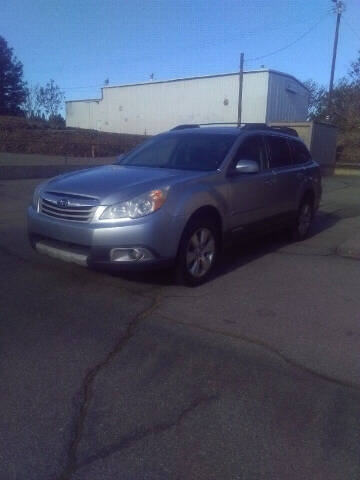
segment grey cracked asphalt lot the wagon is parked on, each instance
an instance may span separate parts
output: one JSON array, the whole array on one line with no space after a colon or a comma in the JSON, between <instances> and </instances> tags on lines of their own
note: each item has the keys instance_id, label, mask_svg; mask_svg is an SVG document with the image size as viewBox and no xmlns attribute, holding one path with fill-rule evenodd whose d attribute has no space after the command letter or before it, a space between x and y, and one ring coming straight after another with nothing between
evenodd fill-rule
<instances>
[{"instance_id":1,"label":"grey cracked asphalt lot the wagon is parked on","mask_svg":"<svg viewBox=\"0 0 360 480\"><path fill-rule=\"evenodd\" d=\"M360 478L360 177L198 288L33 252L37 183L0 182L1 480Z\"/></svg>"}]
</instances>

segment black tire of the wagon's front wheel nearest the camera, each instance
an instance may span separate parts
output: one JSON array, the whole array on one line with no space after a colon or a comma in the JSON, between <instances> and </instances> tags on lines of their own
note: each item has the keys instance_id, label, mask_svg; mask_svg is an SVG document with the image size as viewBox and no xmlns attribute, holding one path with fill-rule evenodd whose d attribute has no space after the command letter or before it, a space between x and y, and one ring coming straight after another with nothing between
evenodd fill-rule
<instances>
[{"instance_id":1,"label":"black tire of the wagon's front wheel nearest the camera","mask_svg":"<svg viewBox=\"0 0 360 480\"><path fill-rule=\"evenodd\" d=\"M208 241L205 242L202 247L199 244L199 251L192 251L194 247L194 240L198 238L200 240L202 235L209 233ZM210 255L213 247L213 255ZM206 252L208 250L208 252ZM179 284L185 284L189 286L197 286L205 283L211 276L214 267L217 263L220 252L220 230L216 223L214 223L210 218L194 218L185 227L185 230L182 234L180 246L178 250L176 267L175 267L175 278L176 282ZM194 262L192 263L191 258L194 255ZM204 266L204 272L200 270L197 271L195 262L199 262L200 266ZM208 266L208 263L210 265ZM208 268L205 268L205 266Z\"/></svg>"}]
</instances>

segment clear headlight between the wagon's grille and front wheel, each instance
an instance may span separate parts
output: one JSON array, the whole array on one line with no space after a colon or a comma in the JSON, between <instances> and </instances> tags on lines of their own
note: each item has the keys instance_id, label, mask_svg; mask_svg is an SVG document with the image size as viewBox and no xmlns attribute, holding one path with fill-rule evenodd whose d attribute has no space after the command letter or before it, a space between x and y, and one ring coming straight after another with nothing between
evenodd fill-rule
<instances>
[{"instance_id":1,"label":"clear headlight between the wagon's grille and front wheel","mask_svg":"<svg viewBox=\"0 0 360 480\"><path fill-rule=\"evenodd\" d=\"M127 202L111 205L104 210L100 220L145 217L164 205L168 190L168 187L151 190Z\"/></svg>"}]
</instances>

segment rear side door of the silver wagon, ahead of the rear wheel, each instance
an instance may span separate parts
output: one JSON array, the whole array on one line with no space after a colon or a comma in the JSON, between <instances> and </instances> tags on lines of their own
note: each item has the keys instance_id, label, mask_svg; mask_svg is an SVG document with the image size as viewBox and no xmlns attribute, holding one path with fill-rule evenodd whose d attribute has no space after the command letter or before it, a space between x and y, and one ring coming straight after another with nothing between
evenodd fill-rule
<instances>
[{"instance_id":1,"label":"rear side door of the silver wagon, ahead of the rear wheel","mask_svg":"<svg viewBox=\"0 0 360 480\"><path fill-rule=\"evenodd\" d=\"M286 220L297 209L300 176L299 165L293 163L287 137L266 134L269 152L269 170L276 176L274 189L274 220Z\"/></svg>"}]
</instances>

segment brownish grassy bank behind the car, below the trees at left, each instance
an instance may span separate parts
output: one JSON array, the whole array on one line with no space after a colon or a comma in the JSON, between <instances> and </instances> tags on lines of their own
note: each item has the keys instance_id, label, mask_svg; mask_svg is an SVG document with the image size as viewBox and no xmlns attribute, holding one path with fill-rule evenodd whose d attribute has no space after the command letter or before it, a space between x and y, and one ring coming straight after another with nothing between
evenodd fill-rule
<instances>
[{"instance_id":1,"label":"brownish grassy bank behind the car, below the trees at left","mask_svg":"<svg viewBox=\"0 0 360 480\"><path fill-rule=\"evenodd\" d=\"M0 152L106 157L130 150L144 139L80 128L54 129L42 121L0 116Z\"/></svg>"}]
</instances>

